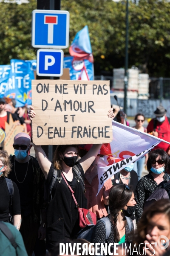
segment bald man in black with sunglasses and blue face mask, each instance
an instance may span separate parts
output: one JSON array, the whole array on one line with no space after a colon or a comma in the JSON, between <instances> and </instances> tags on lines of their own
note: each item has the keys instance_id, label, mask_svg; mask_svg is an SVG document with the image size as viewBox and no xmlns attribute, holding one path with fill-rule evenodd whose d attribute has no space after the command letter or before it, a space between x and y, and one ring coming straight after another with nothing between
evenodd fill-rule
<instances>
[{"instance_id":1,"label":"bald man in black with sunglasses and blue face mask","mask_svg":"<svg viewBox=\"0 0 170 256\"><path fill-rule=\"evenodd\" d=\"M14 156L11 157L11 172L9 178L13 180L20 192L22 223L20 232L24 244L31 256L45 255L45 219L42 214L40 225L40 210L43 208L44 175L35 157L28 154L32 145L28 134L19 133L14 137ZM42 209L44 213L44 210ZM37 237L39 239L37 239ZM40 241L42 240L42 241ZM37 254L34 245L42 249ZM39 246L40 245L40 246Z\"/></svg>"}]
</instances>

